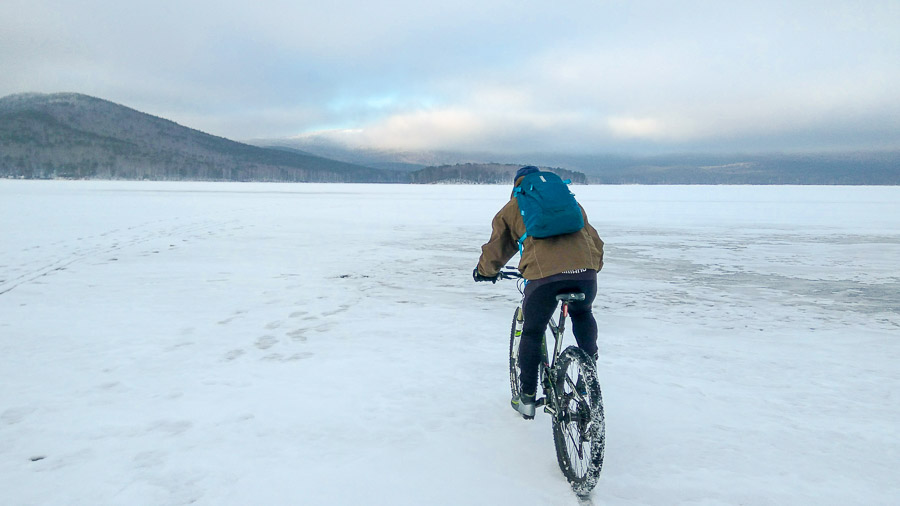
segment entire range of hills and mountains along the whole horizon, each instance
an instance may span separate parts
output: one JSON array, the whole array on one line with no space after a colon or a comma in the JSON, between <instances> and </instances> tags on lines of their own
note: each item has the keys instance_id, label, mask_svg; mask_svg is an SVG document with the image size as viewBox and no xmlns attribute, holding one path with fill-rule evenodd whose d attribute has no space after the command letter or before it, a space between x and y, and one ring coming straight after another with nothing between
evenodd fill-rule
<instances>
[{"instance_id":1,"label":"entire range of hills and mountains along the whole horizon","mask_svg":"<svg viewBox=\"0 0 900 506\"><path fill-rule=\"evenodd\" d=\"M76 93L0 98L0 177L505 184L512 167L538 165L600 184L900 185L897 151L492 154L353 149L315 136L254 144Z\"/></svg>"}]
</instances>

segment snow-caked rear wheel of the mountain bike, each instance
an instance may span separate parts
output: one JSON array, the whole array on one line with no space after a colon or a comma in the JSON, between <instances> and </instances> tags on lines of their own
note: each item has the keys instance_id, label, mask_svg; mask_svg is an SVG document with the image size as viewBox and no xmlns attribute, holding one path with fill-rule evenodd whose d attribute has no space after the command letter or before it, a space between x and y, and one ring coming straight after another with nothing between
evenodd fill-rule
<instances>
[{"instance_id":1,"label":"snow-caked rear wheel of the mountain bike","mask_svg":"<svg viewBox=\"0 0 900 506\"><path fill-rule=\"evenodd\" d=\"M580 396L574 393L579 378L585 386ZM559 412L553 417L556 459L575 493L586 496L600 477L606 444L597 368L584 350L569 346L557 359L553 379L559 399Z\"/></svg>"}]
</instances>

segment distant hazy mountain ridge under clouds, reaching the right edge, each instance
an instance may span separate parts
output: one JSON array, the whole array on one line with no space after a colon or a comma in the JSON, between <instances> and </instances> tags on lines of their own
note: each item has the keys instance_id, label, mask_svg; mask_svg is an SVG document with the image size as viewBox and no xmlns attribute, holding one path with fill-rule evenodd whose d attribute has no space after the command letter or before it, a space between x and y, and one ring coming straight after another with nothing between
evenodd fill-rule
<instances>
[{"instance_id":1,"label":"distant hazy mountain ridge under clouds, reaching the right edge","mask_svg":"<svg viewBox=\"0 0 900 506\"><path fill-rule=\"evenodd\" d=\"M320 136L254 143L291 146L337 160L413 172L458 164L565 167L583 172L594 184L900 185L898 151L638 156L352 149Z\"/></svg>"}]
</instances>

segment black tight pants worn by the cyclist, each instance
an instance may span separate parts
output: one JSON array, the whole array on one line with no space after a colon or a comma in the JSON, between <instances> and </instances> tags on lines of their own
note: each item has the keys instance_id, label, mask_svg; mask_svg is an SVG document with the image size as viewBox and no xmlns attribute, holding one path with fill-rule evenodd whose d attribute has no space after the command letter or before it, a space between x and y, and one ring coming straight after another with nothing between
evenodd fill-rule
<instances>
[{"instance_id":1,"label":"black tight pants worn by the cyclist","mask_svg":"<svg viewBox=\"0 0 900 506\"><path fill-rule=\"evenodd\" d=\"M597 322L591 304L597 296L597 271L577 274L556 274L529 282L525 286L522 313L525 318L522 340L519 342L519 367L522 391L533 394L537 390L537 370L541 361L541 337L556 310L556 296L562 293L584 293L584 300L569 303L572 332L578 347L593 355L597 352ZM552 343L547 343L552 346Z\"/></svg>"}]
</instances>

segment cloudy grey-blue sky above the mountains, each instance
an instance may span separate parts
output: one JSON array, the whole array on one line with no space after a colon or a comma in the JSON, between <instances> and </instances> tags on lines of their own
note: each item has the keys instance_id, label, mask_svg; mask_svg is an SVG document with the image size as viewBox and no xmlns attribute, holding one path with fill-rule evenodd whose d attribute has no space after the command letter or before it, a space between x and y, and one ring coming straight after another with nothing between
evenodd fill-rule
<instances>
[{"instance_id":1,"label":"cloudy grey-blue sky above the mountains","mask_svg":"<svg viewBox=\"0 0 900 506\"><path fill-rule=\"evenodd\" d=\"M236 140L900 149L900 1L2 0L0 96Z\"/></svg>"}]
</instances>

